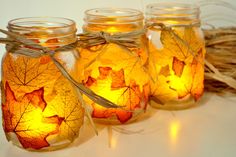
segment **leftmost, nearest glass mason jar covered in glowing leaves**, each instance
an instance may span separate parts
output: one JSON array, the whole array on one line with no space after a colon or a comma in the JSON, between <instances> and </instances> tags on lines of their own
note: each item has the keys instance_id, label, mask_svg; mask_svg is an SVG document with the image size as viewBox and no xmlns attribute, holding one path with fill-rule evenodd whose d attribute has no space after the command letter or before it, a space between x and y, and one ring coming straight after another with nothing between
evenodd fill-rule
<instances>
[{"instance_id":1,"label":"leftmost, nearest glass mason jar covered in glowing leaves","mask_svg":"<svg viewBox=\"0 0 236 157\"><path fill-rule=\"evenodd\" d=\"M8 30L52 50L77 40L74 21L64 18L15 19L8 23ZM74 53L76 49L55 54L73 77L78 70ZM84 119L75 89L49 56L13 53L6 53L2 60L2 113L8 141L36 151L70 144Z\"/></svg>"}]
</instances>

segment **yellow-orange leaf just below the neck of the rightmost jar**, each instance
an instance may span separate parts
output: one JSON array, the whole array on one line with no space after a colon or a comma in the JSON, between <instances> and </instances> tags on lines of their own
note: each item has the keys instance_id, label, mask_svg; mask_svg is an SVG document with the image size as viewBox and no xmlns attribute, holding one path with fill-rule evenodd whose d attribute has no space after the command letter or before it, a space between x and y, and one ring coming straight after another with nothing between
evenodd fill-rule
<instances>
[{"instance_id":1,"label":"yellow-orange leaf just below the neck of the rightmost jar","mask_svg":"<svg viewBox=\"0 0 236 157\"><path fill-rule=\"evenodd\" d=\"M171 31L161 32L161 42L166 54L176 57L180 61L189 63L204 45L201 32L195 27L172 28Z\"/></svg>"}]
</instances>

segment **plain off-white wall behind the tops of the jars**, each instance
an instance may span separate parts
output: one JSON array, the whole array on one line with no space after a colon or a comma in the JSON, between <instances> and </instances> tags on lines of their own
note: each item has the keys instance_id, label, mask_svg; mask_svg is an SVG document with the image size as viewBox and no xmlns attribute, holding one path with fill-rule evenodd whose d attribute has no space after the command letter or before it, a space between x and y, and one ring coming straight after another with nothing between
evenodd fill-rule
<instances>
[{"instance_id":1,"label":"plain off-white wall behind the tops of the jars","mask_svg":"<svg viewBox=\"0 0 236 157\"><path fill-rule=\"evenodd\" d=\"M8 21L15 18L55 16L73 19L77 23L78 31L81 31L84 11L87 9L125 7L145 12L147 4L156 2L187 2L197 5L216 3L216 5L202 7L202 17L211 19L208 23L216 26L236 23L236 0L0 0L0 28L6 28ZM232 8L226 9L223 7L224 3L228 3ZM0 45L0 51L1 57L4 52L2 45Z\"/></svg>"}]
</instances>

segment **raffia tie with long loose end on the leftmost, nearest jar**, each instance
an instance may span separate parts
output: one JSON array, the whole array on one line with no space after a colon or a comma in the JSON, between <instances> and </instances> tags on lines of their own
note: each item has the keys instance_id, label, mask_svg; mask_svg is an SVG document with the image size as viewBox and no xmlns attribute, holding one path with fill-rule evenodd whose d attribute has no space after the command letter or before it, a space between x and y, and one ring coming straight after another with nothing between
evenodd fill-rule
<instances>
[{"instance_id":1,"label":"raffia tie with long loose end on the leftmost, nearest jar","mask_svg":"<svg viewBox=\"0 0 236 157\"><path fill-rule=\"evenodd\" d=\"M76 82L70 74L66 71L66 69L61 65L60 62L58 62L54 54L58 51L65 51L69 50L71 48L75 48L78 44L76 41L75 43L72 43L70 45L66 45L63 47L56 48L55 50L51 50L47 47L43 47L37 43L35 43L32 40L26 39L25 37L15 34L9 31L5 31L0 29L0 32L8 35L8 38L0 38L0 43L6 44L6 49L9 53L14 54L21 54L32 58L41 57L44 55L50 56L54 64L57 66L57 68L60 70L62 75L67 78L75 87L77 87L81 92L86 94L90 99L92 99L94 102L97 102L98 104L107 107L107 108L116 108L114 103L102 98L101 96L95 94L90 89L86 88L83 84ZM29 48L26 48L24 46L28 46Z\"/></svg>"}]
</instances>

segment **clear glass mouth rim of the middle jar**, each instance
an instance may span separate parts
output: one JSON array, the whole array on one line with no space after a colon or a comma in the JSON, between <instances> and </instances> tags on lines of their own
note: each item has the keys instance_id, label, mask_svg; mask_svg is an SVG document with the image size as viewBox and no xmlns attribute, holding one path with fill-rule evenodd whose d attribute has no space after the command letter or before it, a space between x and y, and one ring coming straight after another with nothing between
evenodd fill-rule
<instances>
[{"instance_id":1,"label":"clear glass mouth rim of the middle jar","mask_svg":"<svg viewBox=\"0 0 236 157\"><path fill-rule=\"evenodd\" d=\"M127 23L142 21L143 13L129 8L94 8L85 11L84 21L89 23L117 22Z\"/></svg>"}]
</instances>

